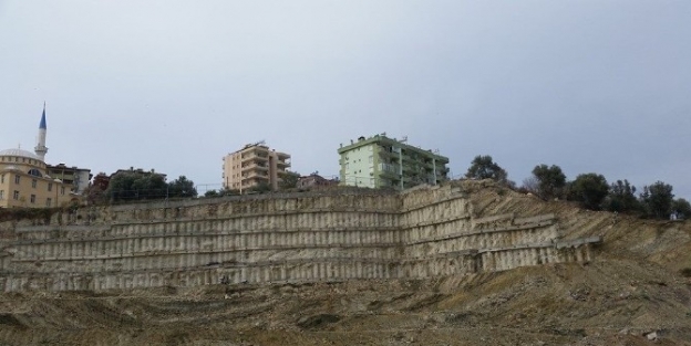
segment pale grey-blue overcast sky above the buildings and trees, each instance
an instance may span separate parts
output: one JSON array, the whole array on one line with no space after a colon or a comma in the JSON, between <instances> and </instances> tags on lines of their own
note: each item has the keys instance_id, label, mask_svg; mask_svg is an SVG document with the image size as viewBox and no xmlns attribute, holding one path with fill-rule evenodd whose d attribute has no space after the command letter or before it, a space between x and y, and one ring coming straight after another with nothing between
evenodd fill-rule
<instances>
[{"instance_id":1,"label":"pale grey-blue overcast sky above the buildings and trees","mask_svg":"<svg viewBox=\"0 0 691 346\"><path fill-rule=\"evenodd\" d=\"M205 188L266 140L337 175L385 132L454 176L491 155L691 198L691 1L0 0L0 149Z\"/></svg>"}]
</instances>

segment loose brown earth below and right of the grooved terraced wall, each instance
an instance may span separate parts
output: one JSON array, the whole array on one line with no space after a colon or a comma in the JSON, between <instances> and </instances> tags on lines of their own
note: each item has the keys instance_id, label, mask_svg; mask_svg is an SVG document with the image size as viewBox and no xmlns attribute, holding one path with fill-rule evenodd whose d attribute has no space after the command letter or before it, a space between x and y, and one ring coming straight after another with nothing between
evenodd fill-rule
<instances>
[{"instance_id":1,"label":"loose brown earth below and right of the grooved terraced wall","mask_svg":"<svg viewBox=\"0 0 691 346\"><path fill-rule=\"evenodd\" d=\"M0 345L691 345L691 223L456 182L476 217L554 213L595 260L431 280L0 294Z\"/></svg>"}]
</instances>

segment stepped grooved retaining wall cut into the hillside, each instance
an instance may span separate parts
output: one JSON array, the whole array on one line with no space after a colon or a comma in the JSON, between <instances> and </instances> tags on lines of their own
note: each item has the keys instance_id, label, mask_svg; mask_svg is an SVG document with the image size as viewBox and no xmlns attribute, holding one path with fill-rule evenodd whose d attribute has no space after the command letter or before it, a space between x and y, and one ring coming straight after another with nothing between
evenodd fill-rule
<instances>
[{"instance_id":1,"label":"stepped grooved retaining wall cut into the hillside","mask_svg":"<svg viewBox=\"0 0 691 346\"><path fill-rule=\"evenodd\" d=\"M2 223L0 289L419 279L589 261L599 241L559 242L553 214L473 208L453 186L82 208Z\"/></svg>"}]
</instances>

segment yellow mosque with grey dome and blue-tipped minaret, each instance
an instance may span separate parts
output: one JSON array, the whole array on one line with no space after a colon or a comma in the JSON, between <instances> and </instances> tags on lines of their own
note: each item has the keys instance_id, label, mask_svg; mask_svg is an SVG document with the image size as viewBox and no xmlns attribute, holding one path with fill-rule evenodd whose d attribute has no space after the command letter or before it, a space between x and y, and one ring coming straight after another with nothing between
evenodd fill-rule
<instances>
[{"instance_id":1,"label":"yellow mosque with grey dome and blue-tipped minaret","mask_svg":"<svg viewBox=\"0 0 691 346\"><path fill-rule=\"evenodd\" d=\"M45 104L34 153L0 151L0 208L59 207L78 198L91 179L89 169L45 164Z\"/></svg>"}]
</instances>

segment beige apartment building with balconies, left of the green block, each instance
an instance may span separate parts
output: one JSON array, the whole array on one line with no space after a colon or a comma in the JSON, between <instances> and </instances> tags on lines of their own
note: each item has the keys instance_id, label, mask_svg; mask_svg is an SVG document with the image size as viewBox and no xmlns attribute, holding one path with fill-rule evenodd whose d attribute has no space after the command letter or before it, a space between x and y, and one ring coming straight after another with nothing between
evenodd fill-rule
<instances>
[{"instance_id":1,"label":"beige apartment building with balconies, left of the green block","mask_svg":"<svg viewBox=\"0 0 691 346\"><path fill-rule=\"evenodd\" d=\"M268 184L272 190L290 167L290 155L270 149L264 141L248 144L224 158L224 188L239 190Z\"/></svg>"}]
</instances>

